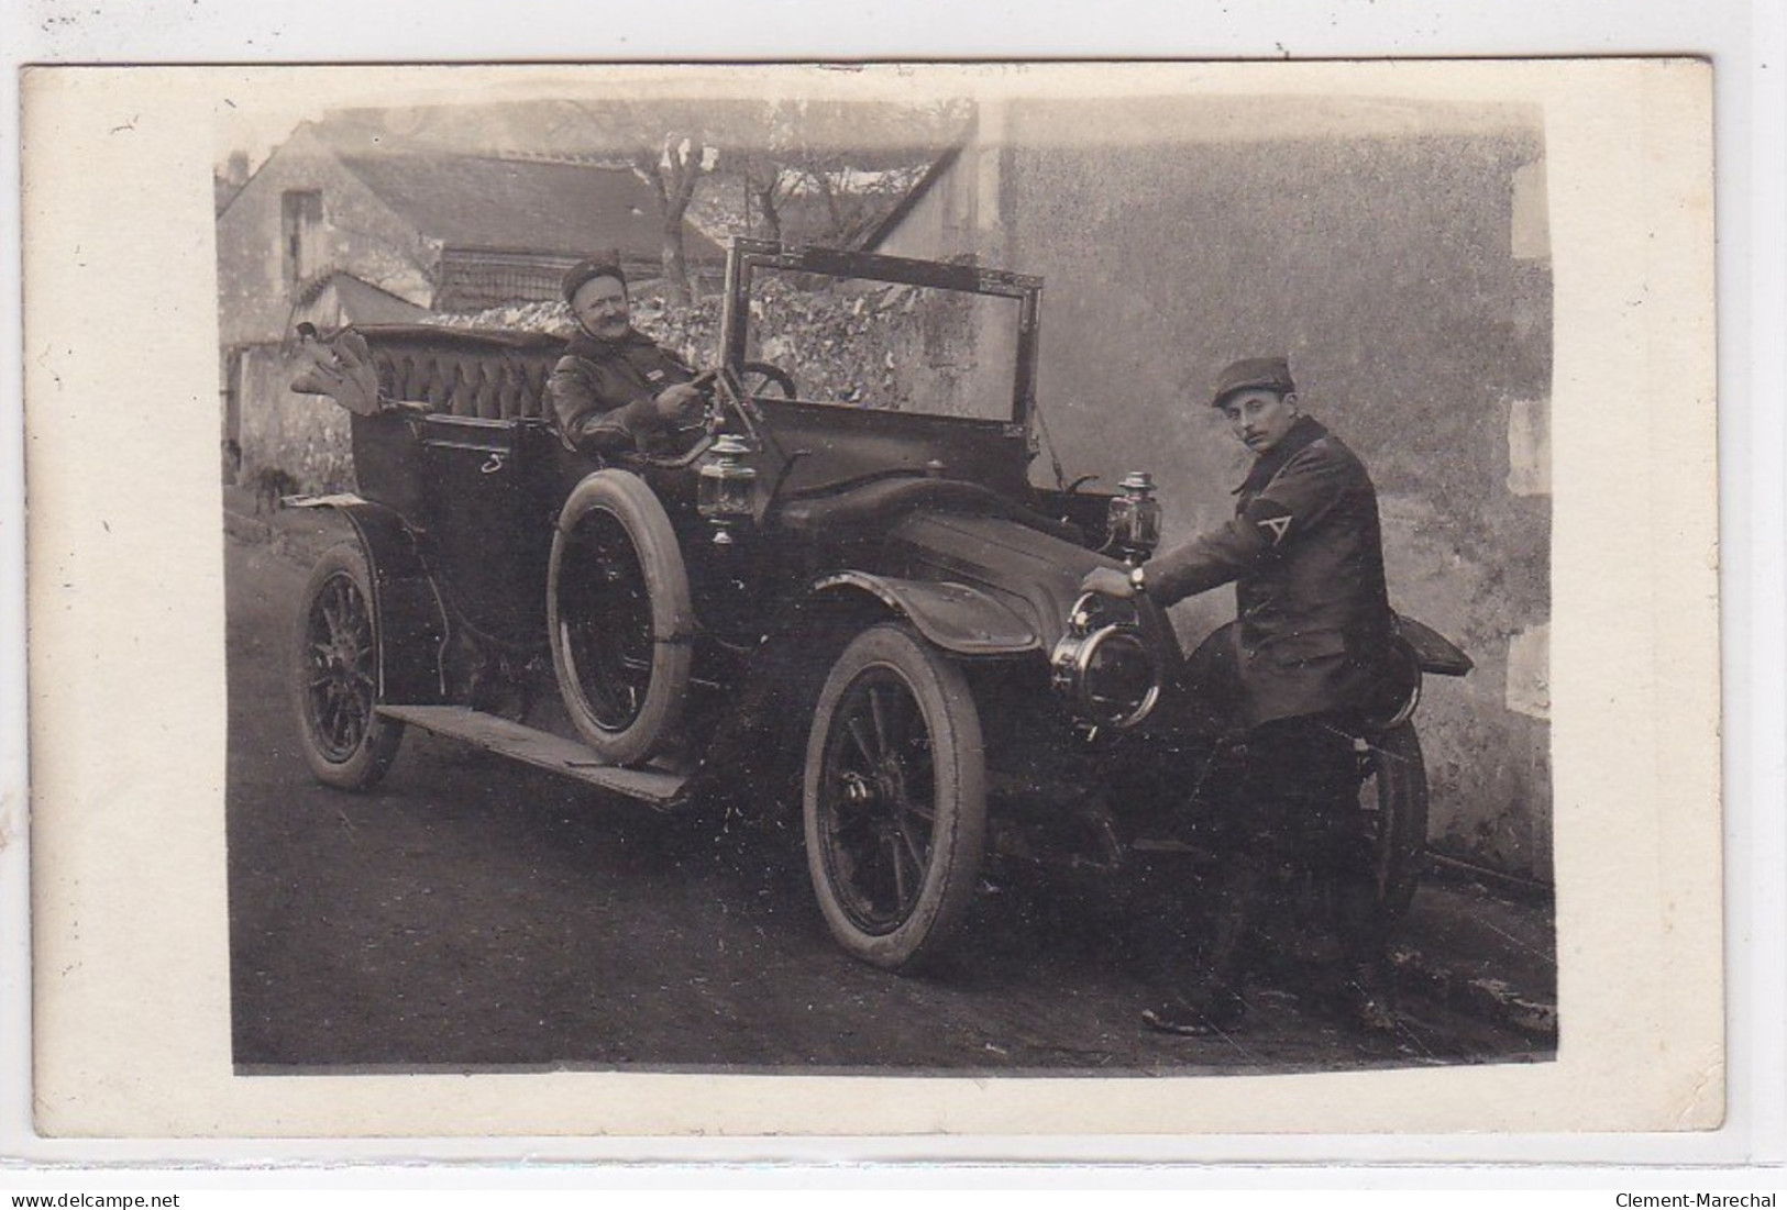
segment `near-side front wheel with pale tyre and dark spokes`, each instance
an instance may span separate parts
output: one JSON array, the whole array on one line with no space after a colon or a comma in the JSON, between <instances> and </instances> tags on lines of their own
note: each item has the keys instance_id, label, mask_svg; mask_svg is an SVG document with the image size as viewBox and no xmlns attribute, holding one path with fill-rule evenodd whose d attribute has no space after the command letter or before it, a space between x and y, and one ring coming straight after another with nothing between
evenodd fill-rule
<instances>
[{"instance_id":1,"label":"near-side front wheel with pale tyre and dark spokes","mask_svg":"<svg viewBox=\"0 0 1787 1210\"><path fill-rule=\"evenodd\" d=\"M802 816L833 937L892 971L935 957L986 842L986 757L961 669L899 625L852 639L818 696Z\"/></svg>"}]
</instances>

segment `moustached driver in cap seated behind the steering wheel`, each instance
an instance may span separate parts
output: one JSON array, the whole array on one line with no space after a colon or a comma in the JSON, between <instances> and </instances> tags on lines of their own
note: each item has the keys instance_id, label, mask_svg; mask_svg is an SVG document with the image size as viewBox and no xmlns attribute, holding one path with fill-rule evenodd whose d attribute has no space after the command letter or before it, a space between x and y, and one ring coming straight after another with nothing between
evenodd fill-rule
<instances>
[{"instance_id":1,"label":"moustached driver in cap seated behind the steering wheel","mask_svg":"<svg viewBox=\"0 0 1787 1210\"><path fill-rule=\"evenodd\" d=\"M597 457L668 453L693 419L701 393L675 353L631 323L627 278L613 261L579 261L565 273L577 318L565 357L547 378L547 403L565 444Z\"/></svg>"}]
</instances>

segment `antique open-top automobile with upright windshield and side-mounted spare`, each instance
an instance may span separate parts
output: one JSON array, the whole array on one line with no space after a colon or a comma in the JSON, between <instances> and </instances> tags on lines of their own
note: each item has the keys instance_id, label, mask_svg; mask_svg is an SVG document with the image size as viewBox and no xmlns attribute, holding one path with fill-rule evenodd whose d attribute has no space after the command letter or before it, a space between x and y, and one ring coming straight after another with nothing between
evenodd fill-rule
<instances>
[{"instance_id":1,"label":"antique open-top automobile with upright windshield and side-mounted spare","mask_svg":"<svg viewBox=\"0 0 1787 1210\"><path fill-rule=\"evenodd\" d=\"M1145 598L1079 593L1147 557L1158 503L1145 475L1031 484L1040 298L734 241L699 427L608 466L541 412L558 337L334 334L377 393L336 393L357 494L293 501L357 539L298 609L311 769L370 787L418 726L667 810L797 796L826 923L890 969L944 946L988 853L1120 869L1162 821L1196 833L1221 632L1185 659ZM1426 839L1421 676L1467 669L1405 619L1360 735L1390 912Z\"/></svg>"}]
</instances>

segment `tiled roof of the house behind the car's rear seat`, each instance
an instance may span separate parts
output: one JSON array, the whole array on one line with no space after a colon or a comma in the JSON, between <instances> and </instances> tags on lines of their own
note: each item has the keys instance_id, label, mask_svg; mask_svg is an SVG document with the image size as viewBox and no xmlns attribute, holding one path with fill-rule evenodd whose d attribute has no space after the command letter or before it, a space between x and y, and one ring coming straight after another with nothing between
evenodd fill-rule
<instances>
[{"instance_id":1,"label":"tiled roof of the house behind the car's rear seat","mask_svg":"<svg viewBox=\"0 0 1787 1210\"><path fill-rule=\"evenodd\" d=\"M658 200L627 168L474 155L347 155L348 171L427 237L461 248L656 257ZM692 261L720 246L684 225Z\"/></svg>"}]
</instances>

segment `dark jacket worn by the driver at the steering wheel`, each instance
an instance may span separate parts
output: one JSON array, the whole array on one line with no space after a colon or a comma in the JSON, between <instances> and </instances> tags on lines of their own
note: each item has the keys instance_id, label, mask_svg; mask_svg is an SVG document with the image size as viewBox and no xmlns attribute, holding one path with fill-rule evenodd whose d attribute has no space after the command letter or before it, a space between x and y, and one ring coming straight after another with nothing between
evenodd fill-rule
<instances>
[{"instance_id":1,"label":"dark jacket worn by the driver at the steering wheel","mask_svg":"<svg viewBox=\"0 0 1787 1210\"><path fill-rule=\"evenodd\" d=\"M572 337L547 378L559 435L584 453L658 450L672 441L652 398L695 375L675 353L634 328L617 341Z\"/></svg>"}]
</instances>

